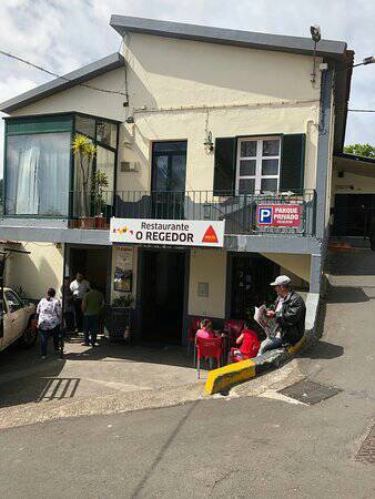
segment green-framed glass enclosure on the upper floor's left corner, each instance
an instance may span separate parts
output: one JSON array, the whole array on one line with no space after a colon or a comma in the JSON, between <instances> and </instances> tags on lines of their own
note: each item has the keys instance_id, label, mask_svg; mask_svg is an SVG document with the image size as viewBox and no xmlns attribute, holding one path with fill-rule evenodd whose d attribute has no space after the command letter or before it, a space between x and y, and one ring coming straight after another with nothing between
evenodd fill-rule
<instances>
[{"instance_id":1,"label":"green-framed glass enclosure on the upper floor's left corner","mask_svg":"<svg viewBox=\"0 0 375 499\"><path fill-rule=\"evenodd\" d=\"M85 192L81 169L72 154L72 139L77 133L88 136L97 146L90 171L85 172L89 179ZM116 143L118 123L101 118L67 113L8 119L6 215L68 217L82 213L78 206L82 196L88 197L87 204L93 212L90 181L98 170L108 179L103 203L112 205Z\"/></svg>"}]
</instances>

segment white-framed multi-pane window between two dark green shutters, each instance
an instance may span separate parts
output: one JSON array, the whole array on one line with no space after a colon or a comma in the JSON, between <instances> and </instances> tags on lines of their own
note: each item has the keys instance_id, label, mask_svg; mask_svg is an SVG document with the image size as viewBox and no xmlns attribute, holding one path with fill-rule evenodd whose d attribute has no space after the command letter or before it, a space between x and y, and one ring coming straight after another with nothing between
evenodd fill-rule
<instances>
[{"instance_id":1,"label":"white-framed multi-pane window between two dark green shutters","mask_svg":"<svg viewBox=\"0 0 375 499\"><path fill-rule=\"evenodd\" d=\"M280 138L239 139L236 194L278 191L280 160Z\"/></svg>"}]
</instances>

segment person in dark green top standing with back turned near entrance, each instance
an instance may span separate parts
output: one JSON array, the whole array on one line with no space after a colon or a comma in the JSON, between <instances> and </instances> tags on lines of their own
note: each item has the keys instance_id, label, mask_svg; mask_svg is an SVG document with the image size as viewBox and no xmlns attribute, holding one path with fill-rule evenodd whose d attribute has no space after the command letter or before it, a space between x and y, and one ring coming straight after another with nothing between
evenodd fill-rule
<instances>
[{"instance_id":1,"label":"person in dark green top standing with back turned near entrance","mask_svg":"<svg viewBox=\"0 0 375 499\"><path fill-rule=\"evenodd\" d=\"M97 345L97 336L100 329L100 315L104 308L104 296L97 289L94 283L91 283L91 289L83 296L82 312L83 312L83 334L84 342L82 345Z\"/></svg>"}]
</instances>

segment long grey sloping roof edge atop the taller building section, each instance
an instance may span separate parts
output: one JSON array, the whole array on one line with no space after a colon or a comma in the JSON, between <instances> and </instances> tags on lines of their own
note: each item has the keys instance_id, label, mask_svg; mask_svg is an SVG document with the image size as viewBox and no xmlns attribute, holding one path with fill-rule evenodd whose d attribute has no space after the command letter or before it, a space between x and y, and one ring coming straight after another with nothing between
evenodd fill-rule
<instances>
[{"instance_id":1,"label":"long grey sloping roof edge atop the taller building section","mask_svg":"<svg viewBox=\"0 0 375 499\"><path fill-rule=\"evenodd\" d=\"M229 30L207 26L185 24L182 22L159 21L129 16L111 17L111 27L121 35L125 32L153 34L156 37L195 40L226 45L246 47L259 50L273 50L311 55L314 43L311 38L286 37L283 34L257 33L253 31ZM331 59L343 59L346 43L334 40L321 40L316 54Z\"/></svg>"}]
</instances>

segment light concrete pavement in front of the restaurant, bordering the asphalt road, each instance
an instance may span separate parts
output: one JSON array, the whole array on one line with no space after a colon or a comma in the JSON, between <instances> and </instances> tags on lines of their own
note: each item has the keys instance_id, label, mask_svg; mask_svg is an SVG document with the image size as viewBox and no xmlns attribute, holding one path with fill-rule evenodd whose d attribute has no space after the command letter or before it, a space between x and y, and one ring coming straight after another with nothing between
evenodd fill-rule
<instances>
[{"instance_id":1,"label":"light concrete pavement in front of the restaurant, bordering the asphalt road","mask_svg":"<svg viewBox=\"0 0 375 499\"><path fill-rule=\"evenodd\" d=\"M197 381L181 347L65 345L65 358L41 361L38 348L10 349L0 358L0 428L77 416L171 407L207 398L207 371ZM226 400L257 396L301 379L296 361L231 390ZM221 396L214 396L221 397Z\"/></svg>"}]
</instances>

